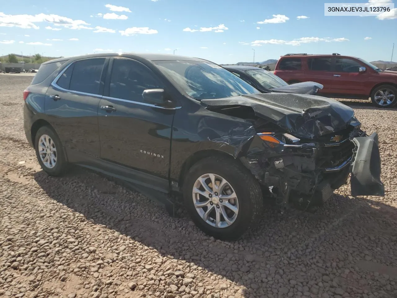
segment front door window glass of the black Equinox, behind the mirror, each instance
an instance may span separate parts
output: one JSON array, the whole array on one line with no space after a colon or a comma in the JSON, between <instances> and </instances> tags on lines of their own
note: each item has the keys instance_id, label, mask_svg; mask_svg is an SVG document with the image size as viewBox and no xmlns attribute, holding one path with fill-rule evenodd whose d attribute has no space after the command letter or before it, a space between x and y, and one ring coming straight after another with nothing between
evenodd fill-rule
<instances>
[{"instance_id":1,"label":"front door window glass of the black Equinox, behind the mirror","mask_svg":"<svg viewBox=\"0 0 397 298\"><path fill-rule=\"evenodd\" d=\"M114 59L110 78L109 96L142 103L145 89L162 89L152 71L141 62Z\"/></svg>"}]
</instances>

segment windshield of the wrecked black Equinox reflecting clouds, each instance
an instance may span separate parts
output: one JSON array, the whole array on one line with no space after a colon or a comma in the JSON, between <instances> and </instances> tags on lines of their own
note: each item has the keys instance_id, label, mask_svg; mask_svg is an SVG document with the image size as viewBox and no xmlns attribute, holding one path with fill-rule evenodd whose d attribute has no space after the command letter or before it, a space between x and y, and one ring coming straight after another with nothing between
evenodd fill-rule
<instances>
[{"instance_id":1,"label":"windshield of the wrecked black Equinox reflecting clouds","mask_svg":"<svg viewBox=\"0 0 397 298\"><path fill-rule=\"evenodd\" d=\"M260 93L249 83L211 62L191 60L153 62L179 89L193 99L219 99Z\"/></svg>"}]
</instances>

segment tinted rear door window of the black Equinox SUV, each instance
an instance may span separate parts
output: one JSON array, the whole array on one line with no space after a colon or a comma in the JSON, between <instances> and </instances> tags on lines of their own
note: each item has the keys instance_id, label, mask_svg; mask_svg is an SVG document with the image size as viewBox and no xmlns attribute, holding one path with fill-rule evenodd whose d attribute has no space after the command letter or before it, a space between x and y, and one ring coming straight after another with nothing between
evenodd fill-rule
<instances>
[{"instance_id":1,"label":"tinted rear door window of the black Equinox SUV","mask_svg":"<svg viewBox=\"0 0 397 298\"><path fill-rule=\"evenodd\" d=\"M100 78L105 58L85 59L74 62L69 90L99 94Z\"/></svg>"}]
</instances>

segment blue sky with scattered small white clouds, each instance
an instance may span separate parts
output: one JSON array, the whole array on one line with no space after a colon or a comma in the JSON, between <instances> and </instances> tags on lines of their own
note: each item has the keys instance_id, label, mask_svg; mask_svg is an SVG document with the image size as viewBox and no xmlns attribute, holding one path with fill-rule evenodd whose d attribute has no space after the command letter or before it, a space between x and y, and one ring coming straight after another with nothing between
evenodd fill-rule
<instances>
[{"instance_id":1,"label":"blue sky with scattered small white clouds","mask_svg":"<svg viewBox=\"0 0 397 298\"><path fill-rule=\"evenodd\" d=\"M367 0L388 2L394 0ZM331 2L331 1L328 1ZM366 1L356 0L356 3ZM169 53L218 64L287 53L397 58L397 8L377 16L324 16L318 0L2 1L0 55ZM393 58L393 60L396 60Z\"/></svg>"}]
</instances>

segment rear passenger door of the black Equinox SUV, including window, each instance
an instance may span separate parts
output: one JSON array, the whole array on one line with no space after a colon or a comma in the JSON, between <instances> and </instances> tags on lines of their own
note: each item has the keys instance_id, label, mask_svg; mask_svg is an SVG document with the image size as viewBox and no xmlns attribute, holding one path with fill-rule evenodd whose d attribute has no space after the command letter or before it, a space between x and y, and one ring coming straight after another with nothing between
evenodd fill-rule
<instances>
[{"instance_id":1,"label":"rear passenger door of the black Equinox SUV, including window","mask_svg":"<svg viewBox=\"0 0 397 298\"><path fill-rule=\"evenodd\" d=\"M100 157L98 104L102 98L106 58L69 64L45 97L45 112L64 145L69 161Z\"/></svg>"}]
</instances>

